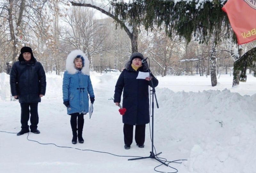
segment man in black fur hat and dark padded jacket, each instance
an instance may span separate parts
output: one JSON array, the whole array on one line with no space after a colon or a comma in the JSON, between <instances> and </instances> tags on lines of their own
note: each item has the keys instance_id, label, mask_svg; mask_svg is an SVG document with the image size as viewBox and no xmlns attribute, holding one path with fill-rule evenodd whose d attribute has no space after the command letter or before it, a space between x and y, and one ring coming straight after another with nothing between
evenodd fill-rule
<instances>
[{"instance_id":1,"label":"man in black fur hat and dark padded jacket","mask_svg":"<svg viewBox=\"0 0 256 173\"><path fill-rule=\"evenodd\" d=\"M11 93L15 99L19 99L21 107L21 131L17 136L29 132L29 113L31 114L30 132L38 134L40 131L37 130L37 107L46 90L44 68L36 61L30 47L21 48L18 59L19 61L12 65L10 74Z\"/></svg>"}]
</instances>

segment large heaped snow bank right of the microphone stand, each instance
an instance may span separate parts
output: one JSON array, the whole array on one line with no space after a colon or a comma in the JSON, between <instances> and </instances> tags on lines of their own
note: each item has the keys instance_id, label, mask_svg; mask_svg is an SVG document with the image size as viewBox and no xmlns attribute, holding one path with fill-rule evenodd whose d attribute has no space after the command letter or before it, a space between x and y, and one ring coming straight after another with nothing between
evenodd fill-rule
<instances>
[{"instance_id":1,"label":"large heaped snow bank right of the microphone stand","mask_svg":"<svg viewBox=\"0 0 256 173\"><path fill-rule=\"evenodd\" d=\"M255 172L256 94L157 92L156 129L168 132L160 140L189 154L180 172Z\"/></svg>"}]
</instances>

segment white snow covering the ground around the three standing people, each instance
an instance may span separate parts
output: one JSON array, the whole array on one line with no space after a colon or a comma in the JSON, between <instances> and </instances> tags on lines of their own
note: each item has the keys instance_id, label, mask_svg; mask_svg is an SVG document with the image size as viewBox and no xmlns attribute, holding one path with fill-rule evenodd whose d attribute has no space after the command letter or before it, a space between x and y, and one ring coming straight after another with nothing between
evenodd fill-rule
<instances>
[{"instance_id":1,"label":"white snow covering the ground around the three standing people","mask_svg":"<svg viewBox=\"0 0 256 173\"><path fill-rule=\"evenodd\" d=\"M62 78L47 74L46 95L39 103L40 134L22 136L0 132L0 172L111 172L153 173L159 162L152 159L127 161L117 157L73 148L117 155L149 156L151 141L146 126L145 148L133 142L124 149L122 117L112 100L120 73L91 72L95 93L92 118L85 115L84 144L71 143L69 116L62 104ZM218 85L210 77L157 77L159 109L154 112L154 145L159 157L181 173L253 173L256 170L256 78L234 88L232 77L221 75ZM20 104L10 101L9 75L0 73L0 131L20 131ZM227 89L225 89L227 88ZM183 91L184 90L184 91ZM155 106L156 108L156 106ZM156 168L175 172L166 166Z\"/></svg>"}]
</instances>

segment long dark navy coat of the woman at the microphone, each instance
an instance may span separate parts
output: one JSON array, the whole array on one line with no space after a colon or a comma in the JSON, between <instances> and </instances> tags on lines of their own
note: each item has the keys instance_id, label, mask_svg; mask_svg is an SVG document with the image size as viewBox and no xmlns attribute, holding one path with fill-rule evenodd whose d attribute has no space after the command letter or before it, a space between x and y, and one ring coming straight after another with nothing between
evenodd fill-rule
<instances>
[{"instance_id":1,"label":"long dark navy coat of the woman at the microphone","mask_svg":"<svg viewBox=\"0 0 256 173\"><path fill-rule=\"evenodd\" d=\"M116 82L114 102L121 102L121 95L124 89L123 108L126 108L126 112L123 115L124 124L140 125L149 123L148 86L151 86L151 81L136 79L139 71L148 72L148 69L143 64L142 67L135 71L129 63ZM158 80L153 75L152 81L156 87Z\"/></svg>"}]
</instances>

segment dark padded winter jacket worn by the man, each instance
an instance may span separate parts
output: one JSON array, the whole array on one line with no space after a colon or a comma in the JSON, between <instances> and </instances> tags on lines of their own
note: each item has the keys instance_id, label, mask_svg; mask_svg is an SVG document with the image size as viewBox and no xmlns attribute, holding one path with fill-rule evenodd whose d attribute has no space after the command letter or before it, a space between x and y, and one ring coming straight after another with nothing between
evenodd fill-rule
<instances>
[{"instance_id":1,"label":"dark padded winter jacket worn by the man","mask_svg":"<svg viewBox=\"0 0 256 173\"><path fill-rule=\"evenodd\" d=\"M12 96L18 95L19 102L41 102L39 94L45 94L46 77L41 63L34 56L26 62L21 55L12 65L10 74Z\"/></svg>"}]
</instances>

